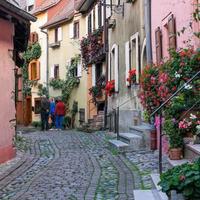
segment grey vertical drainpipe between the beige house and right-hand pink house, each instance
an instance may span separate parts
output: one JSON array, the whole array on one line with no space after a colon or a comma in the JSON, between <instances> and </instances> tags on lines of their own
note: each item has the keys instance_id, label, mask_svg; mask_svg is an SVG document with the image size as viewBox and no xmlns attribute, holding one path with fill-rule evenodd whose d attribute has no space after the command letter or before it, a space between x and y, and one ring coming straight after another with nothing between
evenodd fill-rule
<instances>
[{"instance_id":1,"label":"grey vertical drainpipe between the beige house and right-hand pink house","mask_svg":"<svg viewBox=\"0 0 200 200\"><path fill-rule=\"evenodd\" d=\"M144 0L144 17L146 33L146 53L147 64L152 64L152 44L151 44L151 0Z\"/></svg>"}]
</instances>

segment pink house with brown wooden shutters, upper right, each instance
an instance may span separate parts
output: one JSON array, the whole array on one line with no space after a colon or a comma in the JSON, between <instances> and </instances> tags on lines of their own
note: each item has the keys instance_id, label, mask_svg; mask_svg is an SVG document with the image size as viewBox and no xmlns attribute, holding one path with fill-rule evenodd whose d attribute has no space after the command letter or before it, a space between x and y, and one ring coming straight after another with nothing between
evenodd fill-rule
<instances>
[{"instance_id":1,"label":"pink house with brown wooden shutters, upper right","mask_svg":"<svg viewBox=\"0 0 200 200\"><path fill-rule=\"evenodd\" d=\"M153 62L168 57L169 48L200 47L200 40L194 32L200 31L193 13L198 0L152 0L151 37ZM180 35L178 34L180 33Z\"/></svg>"}]
</instances>

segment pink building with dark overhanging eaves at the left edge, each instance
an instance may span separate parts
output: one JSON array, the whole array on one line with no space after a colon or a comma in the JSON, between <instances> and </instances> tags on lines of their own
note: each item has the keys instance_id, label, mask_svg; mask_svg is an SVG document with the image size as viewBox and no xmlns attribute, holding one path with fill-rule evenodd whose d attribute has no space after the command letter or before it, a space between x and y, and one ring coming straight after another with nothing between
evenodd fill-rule
<instances>
[{"instance_id":1,"label":"pink building with dark overhanging eaves at the left edge","mask_svg":"<svg viewBox=\"0 0 200 200\"><path fill-rule=\"evenodd\" d=\"M0 163L15 156L15 72L23 65L30 20L36 18L8 1L0 1ZM16 83L16 84L15 84Z\"/></svg>"}]
</instances>

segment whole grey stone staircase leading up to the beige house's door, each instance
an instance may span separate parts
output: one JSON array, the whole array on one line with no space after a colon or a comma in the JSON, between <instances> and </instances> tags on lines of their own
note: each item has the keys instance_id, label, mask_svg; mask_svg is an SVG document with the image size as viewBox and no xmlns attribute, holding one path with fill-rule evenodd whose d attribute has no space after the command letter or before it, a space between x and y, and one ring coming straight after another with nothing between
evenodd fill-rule
<instances>
[{"instance_id":1,"label":"whole grey stone staircase leading up to the beige house's door","mask_svg":"<svg viewBox=\"0 0 200 200\"><path fill-rule=\"evenodd\" d=\"M109 143L121 152L150 150L152 130L146 123L131 126L128 133L119 133L119 140L109 140Z\"/></svg>"}]
</instances>

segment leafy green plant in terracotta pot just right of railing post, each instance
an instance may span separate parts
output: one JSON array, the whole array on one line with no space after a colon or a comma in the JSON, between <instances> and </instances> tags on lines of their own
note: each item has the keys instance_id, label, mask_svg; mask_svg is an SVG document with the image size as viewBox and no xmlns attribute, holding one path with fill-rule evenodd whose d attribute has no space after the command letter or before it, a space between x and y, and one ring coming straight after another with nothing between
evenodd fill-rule
<instances>
[{"instance_id":1,"label":"leafy green plant in terracotta pot just right of railing post","mask_svg":"<svg viewBox=\"0 0 200 200\"><path fill-rule=\"evenodd\" d=\"M169 158L171 160L180 160L183 157L183 138L177 123L172 119L167 119L164 122L164 131L169 137Z\"/></svg>"}]
</instances>

